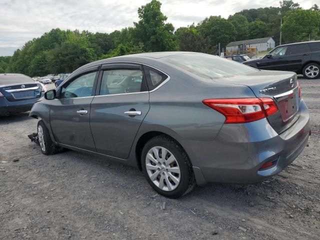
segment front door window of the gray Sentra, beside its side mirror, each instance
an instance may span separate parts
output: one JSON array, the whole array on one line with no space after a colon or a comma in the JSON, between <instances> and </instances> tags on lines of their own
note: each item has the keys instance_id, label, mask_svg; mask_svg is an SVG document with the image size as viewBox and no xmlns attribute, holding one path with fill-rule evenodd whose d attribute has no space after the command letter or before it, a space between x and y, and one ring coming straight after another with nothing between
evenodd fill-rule
<instances>
[{"instance_id":1,"label":"front door window of the gray Sentra, beside its side mirror","mask_svg":"<svg viewBox=\"0 0 320 240\"><path fill-rule=\"evenodd\" d=\"M74 98L92 95L96 72L89 72L76 77L62 86L60 98Z\"/></svg>"}]
</instances>

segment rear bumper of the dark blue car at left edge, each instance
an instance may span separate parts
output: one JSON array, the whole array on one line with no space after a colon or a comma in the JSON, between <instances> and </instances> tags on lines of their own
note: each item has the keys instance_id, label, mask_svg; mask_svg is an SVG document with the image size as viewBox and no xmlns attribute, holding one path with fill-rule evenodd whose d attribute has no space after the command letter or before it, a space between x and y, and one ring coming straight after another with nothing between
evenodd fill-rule
<instances>
[{"instance_id":1,"label":"rear bumper of the dark blue car at left edge","mask_svg":"<svg viewBox=\"0 0 320 240\"><path fill-rule=\"evenodd\" d=\"M10 115L13 113L29 111L39 97L19 101L8 101L5 97L0 98L0 116Z\"/></svg>"}]
</instances>

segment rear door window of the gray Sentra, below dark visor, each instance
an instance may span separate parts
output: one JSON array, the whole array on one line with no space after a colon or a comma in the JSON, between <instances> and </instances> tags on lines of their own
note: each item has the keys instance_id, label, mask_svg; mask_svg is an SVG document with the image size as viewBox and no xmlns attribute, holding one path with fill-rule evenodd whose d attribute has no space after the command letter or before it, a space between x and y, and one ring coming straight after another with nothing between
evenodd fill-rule
<instances>
[{"instance_id":1,"label":"rear door window of the gray Sentra, below dark visor","mask_svg":"<svg viewBox=\"0 0 320 240\"><path fill-rule=\"evenodd\" d=\"M140 69L103 70L99 95L133 93L146 90Z\"/></svg>"}]
</instances>

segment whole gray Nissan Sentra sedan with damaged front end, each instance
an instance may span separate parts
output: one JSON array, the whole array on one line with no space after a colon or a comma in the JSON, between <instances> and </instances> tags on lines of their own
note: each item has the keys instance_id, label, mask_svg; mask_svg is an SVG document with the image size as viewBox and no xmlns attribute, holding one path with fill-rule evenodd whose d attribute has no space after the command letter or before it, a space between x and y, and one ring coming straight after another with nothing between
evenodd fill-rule
<instances>
[{"instance_id":1,"label":"whole gray Nissan Sentra sedan with damaged front end","mask_svg":"<svg viewBox=\"0 0 320 240\"><path fill-rule=\"evenodd\" d=\"M254 183L307 144L296 74L196 52L91 62L37 101L41 151L65 147L139 167L158 193L195 184Z\"/></svg>"}]
</instances>

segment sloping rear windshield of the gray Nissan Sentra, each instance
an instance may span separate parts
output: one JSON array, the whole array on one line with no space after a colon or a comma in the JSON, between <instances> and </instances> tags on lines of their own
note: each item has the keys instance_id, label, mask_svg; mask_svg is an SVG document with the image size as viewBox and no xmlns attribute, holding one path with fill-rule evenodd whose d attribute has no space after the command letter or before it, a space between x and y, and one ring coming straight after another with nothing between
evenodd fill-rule
<instances>
[{"instance_id":1,"label":"sloping rear windshield of the gray Nissan Sentra","mask_svg":"<svg viewBox=\"0 0 320 240\"><path fill-rule=\"evenodd\" d=\"M257 69L205 53L186 53L162 58L183 70L205 78L220 78L258 71Z\"/></svg>"}]
</instances>

